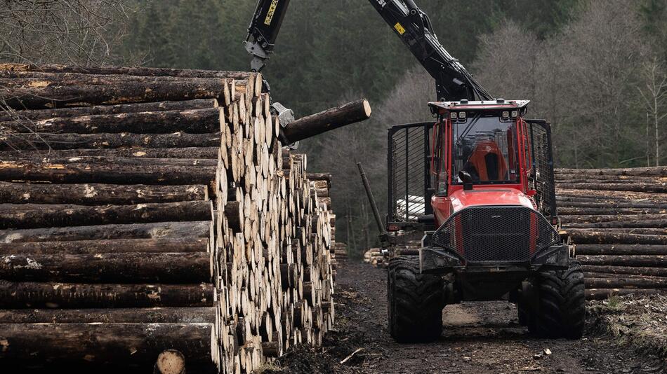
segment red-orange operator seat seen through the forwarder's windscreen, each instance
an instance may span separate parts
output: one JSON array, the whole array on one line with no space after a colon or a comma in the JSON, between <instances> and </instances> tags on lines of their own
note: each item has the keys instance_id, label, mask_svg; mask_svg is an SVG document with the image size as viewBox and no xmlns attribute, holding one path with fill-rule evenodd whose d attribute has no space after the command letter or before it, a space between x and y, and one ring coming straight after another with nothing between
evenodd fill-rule
<instances>
[{"instance_id":1,"label":"red-orange operator seat seen through the forwarder's windscreen","mask_svg":"<svg viewBox=\"0 0 667 374\"><path fill-rule=\"evenodd\" d=\"M479 181L503 181L507 176L507 163L498 144L493 140L480 141L470 154L463 169Z\"/></svg>"}]
</instances>

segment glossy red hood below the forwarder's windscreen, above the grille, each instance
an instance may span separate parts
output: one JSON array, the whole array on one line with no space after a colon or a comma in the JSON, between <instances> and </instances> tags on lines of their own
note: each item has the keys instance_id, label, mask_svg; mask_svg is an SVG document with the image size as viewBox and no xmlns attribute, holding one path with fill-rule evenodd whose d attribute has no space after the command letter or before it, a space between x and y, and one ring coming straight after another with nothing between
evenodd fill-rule
<instances>
[{"instance_id":1,"label":"glossy red hood below the forwarder's windscreen, above the grille","mask_svg":"<svg viewBox=\"0 0 667 374\"><path fill-rule=\"evenodd\" d=\"M475 186L472 191L455 191L449 198L451 198L452 213L475 205L522 205L535 209L533 200L516 188Z\"/></svg>"}]
</instances>

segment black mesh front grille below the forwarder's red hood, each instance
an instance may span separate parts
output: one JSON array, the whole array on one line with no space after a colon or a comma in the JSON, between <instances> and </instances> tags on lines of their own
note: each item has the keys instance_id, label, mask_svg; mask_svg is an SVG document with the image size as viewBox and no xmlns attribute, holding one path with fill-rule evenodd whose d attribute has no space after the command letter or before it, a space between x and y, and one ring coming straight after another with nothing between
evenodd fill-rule
<instances>
[{"instance_id":1,"label":"black mesh front grille below the forwarder's red hood","mask_svg":"<svg viewBox=\"0 0 667 374\"><path fill-rule=\"evenodd\" d=\"M529 261L560 243L560 237L544 216L527 207L469 207L452 214L432 242L468 263L515 263Z\"/></svg>"}]
</instances>

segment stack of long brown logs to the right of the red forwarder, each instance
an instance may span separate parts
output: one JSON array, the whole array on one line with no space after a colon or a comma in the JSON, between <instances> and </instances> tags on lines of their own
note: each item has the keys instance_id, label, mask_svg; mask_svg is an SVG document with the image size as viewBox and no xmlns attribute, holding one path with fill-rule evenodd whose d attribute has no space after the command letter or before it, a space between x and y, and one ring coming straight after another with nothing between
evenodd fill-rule
<instances>
[{"instance_id":1,"label":"stack of long brown logs to the right of the red forwarder","mask_svg":"<svg viewBox=\"0 0 667 374\"><path fill-rule=\"evenodd\" d=\"M667 291L667 167L556 169L555 176L586 296Z\"/></svg>"}]
</instances>

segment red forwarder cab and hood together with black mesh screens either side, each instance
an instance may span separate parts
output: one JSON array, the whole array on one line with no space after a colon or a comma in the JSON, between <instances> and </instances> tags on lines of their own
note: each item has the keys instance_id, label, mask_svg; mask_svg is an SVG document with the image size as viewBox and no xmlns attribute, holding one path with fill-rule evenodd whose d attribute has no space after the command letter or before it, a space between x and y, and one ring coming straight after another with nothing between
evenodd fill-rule
<instances>
[{"instance_id":1,"label":"red forwarder cab and hood together with black mesh screens either side","mask_svg":"<svg viewBox=\"0 0 667 374\"><path fill-rule=\"evenodd\" d=\"M391 127L388 230L435 230L465 207L499 205L555 225L550 125L524 119L528 103L431 102L435 123Z\"/></svg>"}]
</instances>

